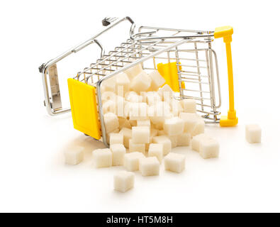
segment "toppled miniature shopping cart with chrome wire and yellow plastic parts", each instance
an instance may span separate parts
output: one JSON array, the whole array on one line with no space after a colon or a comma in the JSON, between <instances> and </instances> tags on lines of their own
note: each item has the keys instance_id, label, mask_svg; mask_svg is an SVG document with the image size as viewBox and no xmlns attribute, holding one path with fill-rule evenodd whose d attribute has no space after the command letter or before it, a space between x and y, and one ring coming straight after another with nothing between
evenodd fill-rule
<instances>
[{"instance_id":1,"label":"toppled miniature shopping cart with chrome wire and yellow plastic parts","mask_svg":"<svg viewBox=\"0 0 280 227\"><path fill-rule=\"evenodd\" d=\"M114 50L105 53L97 38L124 21L131 23L129 37ZM165 70L169 77L165 79L174 92L177 92L174 98L196 99L197 111L205 118L206 123L220 123L220 126L237 124L230 49L232 27L215 28L215 31L194 31L140 26L138 33L135 33L135 23L130 17L105 18L102 23L106 26L103 31L39 67L43 75L45 106L50 115L62 114L72 109L74 128L100 140L102 135L106 135L101 84L116 74L141 64L147 71ZM230 109L228 116L220 118L220 79L217 55L211 47L213 38L223 38L228 60ZM101 57L68 79L72 108L62 108L56 64L93 43L99 46ZM102 140L108 146L106 136Z\"/></svg>"}]
</instances>

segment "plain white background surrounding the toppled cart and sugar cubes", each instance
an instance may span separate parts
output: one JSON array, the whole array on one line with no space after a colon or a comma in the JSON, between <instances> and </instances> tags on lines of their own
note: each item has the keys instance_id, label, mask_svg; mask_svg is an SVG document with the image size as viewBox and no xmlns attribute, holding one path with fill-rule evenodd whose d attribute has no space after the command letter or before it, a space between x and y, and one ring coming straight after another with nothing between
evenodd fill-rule
<instances>
[{"instance_id":1,"label":"plain white background surrounding the toppled cart and sugar cubes","mask_svg":"<svg viewBox=\"0 0 280 227\"><path fill-rule=\"evenodd\" d=\"M240 123L206 127L220 142L218 159L176 148L186 154L184 172L137 172L135 188L120 194L113 174L122 167L91 166L91 150L103 144L75 131L71 114L47 115L38 66L94 35L105 16L131 16L138 26L233 26ZM280 211L279 19L277 1L1 1L0 211ZM225 47L214 43L226 114ZM246 123L262 127L261 144L245 141ZM86 160L69 167L62 153L72 145L84 146Z\"/></svg>"}]
</instances>

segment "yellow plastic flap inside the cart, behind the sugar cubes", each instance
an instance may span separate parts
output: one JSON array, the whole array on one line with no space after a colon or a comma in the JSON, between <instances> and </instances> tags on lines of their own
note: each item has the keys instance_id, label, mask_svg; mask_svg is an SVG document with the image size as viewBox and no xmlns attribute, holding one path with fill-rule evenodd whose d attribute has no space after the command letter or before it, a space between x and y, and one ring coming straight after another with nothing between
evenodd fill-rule
<instances>
[{"instance_id":1,"label":"yellow plastic flap inside the cart, behind the sugar cubes","mask_svg":"<svg viewBox=\"0 0 280 227\"><path fill-rule=\"evenodd\" d=\"M159 63L157 64L157 70L159 74L162 75L165 79L165 84L168 84L172 88L173 92L179 91L179 80L178 80L178 71L177 71L177 62L169 62L167 64ZM181 66L180 66L181 70ZM185 88L184 82L182 84L182 89Z\"/></svg>"}]
</instances>

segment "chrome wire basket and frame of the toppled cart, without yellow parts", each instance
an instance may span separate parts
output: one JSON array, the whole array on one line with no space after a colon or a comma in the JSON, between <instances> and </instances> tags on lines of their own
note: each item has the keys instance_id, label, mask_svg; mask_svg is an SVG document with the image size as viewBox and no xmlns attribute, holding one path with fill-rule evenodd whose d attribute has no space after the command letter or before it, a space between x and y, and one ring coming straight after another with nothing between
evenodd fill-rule
<instances>
[{"instance_id":1,"label":"chrome wire basket and frame of the toppled cart, without yellow parts","mask_svg":"<svg viewBox=\"0 0 280 227\"><path fill-rule=\"evenodd\" d=\"M206 123L219 122L218 115L220 112L218 112L218 108L221 105L221 95L217 55L211 48L213 31L195 31L141 26L138 29L138 33L134 33L135 23L129 17L118 20L116 18L107 18L107 20L108 23L113 21L116 22L97 35L94 35L89 40L86 40L84 43L77 45L75 48L70 49L64 54L56 57L54 60L50 60L43 65L42 75L45 103L49 114L62 114L70 110L69 108L62 109L62 107L59 109L53 109L54 105L52 105L51 101L55 100L53 98L54 94L50 95L47 87L47 74L50 67L73 52L78 52L91 43L96 43L99 45L99 48L101 48L101 57L96 60L96 62L91 63L89 67L86 67L81 72L78 72L74 79L96 87L102 135L106 135L106 128L103 119L101 84L106 81L106 79L109 79L138 64L142 64L145 70L155 70L157 69L155 63L157 60L165 60L167 62L175 60L177 62L180 92L179 96L174 98L192 98L198 100L197 104L200 106L198 111L201 112L203 117L206 119ZM117 46L114 50L109 51L108 54L105 54L101 43L99 43L99 40L96 40L96 38L116 26L118 23L126 20L131 23L130 38L121 43L121 45ZM203 45L203 48L198 48L198 45ZM199 56L203 52L205 57L201 59ZM182 57L182 55L186 53L194 54L194 57ZM165 54L167 54L167 57L165 57ZM145 67L145 62L148 60L153 61L154 67ZM194 62L195 65L190 62ZM213 64L213 62L215 63ZM186 70L189 67L194 68L194 70ZM206 74L201 72L203 70ZM83 75L83 77L81 77L81 75ZM91 79L91 81L89 81L89 79ZM94 79L96 79L96 82L94 82ZM183 82L186 84L186 88L183 88ZM218 104L216 104L215 83L217 83L218 87ZM198 88L189 89L189 84L198 84ZM205 87L207 87L207 89ZM189 95L191 92L196 92L198 95ZM208 95L208 97L206 97L206 95ZM108 146L106 136L103 136L103 143Z\"/></svg>"}]
</instances>

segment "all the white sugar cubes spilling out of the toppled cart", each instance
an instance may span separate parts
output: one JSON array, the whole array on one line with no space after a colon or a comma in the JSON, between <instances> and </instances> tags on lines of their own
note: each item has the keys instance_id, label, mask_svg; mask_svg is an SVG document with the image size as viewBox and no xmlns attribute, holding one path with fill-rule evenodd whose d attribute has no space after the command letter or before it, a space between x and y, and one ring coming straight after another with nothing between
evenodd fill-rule
<instances>
[{"instance_id":1,"label":"all the white sugar cubes spilling out of the toppled cart","mask_svg":"<svg viewBox=\"0 0 280 227\"><path fill-rule=\"evenodd\" d=\"M92 157L97 168L124 167L114 175L114 189L133 188L135 171L142 176L159 175L162 162L165 170L182 172L185 155L172 153L172 148L190 145L203 158L218 157L219 144L204 133L196 101L176 99L157 70L147 74L141 65L130 67L105 80L101 94L109 148L94 150ZM247 131L255 128L249 126ZM247 134L247 140L257 140L257 135ZM65 153L66 162L79 163L80 153Z\"/></svg>"}]
</instances>

